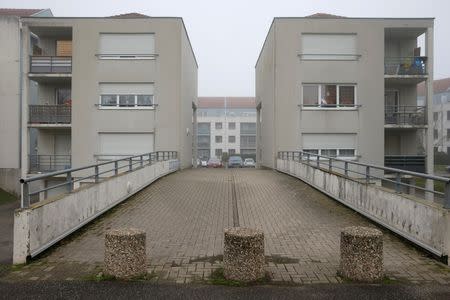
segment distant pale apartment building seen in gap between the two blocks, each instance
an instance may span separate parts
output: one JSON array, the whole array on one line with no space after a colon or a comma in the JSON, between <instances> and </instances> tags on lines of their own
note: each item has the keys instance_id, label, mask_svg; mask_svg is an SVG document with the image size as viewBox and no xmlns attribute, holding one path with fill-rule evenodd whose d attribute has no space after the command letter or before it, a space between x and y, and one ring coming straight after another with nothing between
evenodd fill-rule
<instances>
[{"instance_id":1,"label":"distant pale apartment building seen in gap between the two blocks","mask_svg":"<svg viewBox=\"0 0 450 300\"><path fill-rule=\"evenodd\" d=\"M197 126L198 158L225 152L256 158L254 97L199 97Z\"/></svg>"}]
</instances>

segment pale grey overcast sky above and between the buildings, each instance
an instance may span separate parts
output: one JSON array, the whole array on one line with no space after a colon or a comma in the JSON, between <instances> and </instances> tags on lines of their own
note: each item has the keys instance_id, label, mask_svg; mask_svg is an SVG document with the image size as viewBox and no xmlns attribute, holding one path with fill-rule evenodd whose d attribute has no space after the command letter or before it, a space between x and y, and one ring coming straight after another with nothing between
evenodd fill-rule
<instances>
[{"instance_id":1,"label":"pale grey overcast sky above and between the buildings","mask_svg":"<svg viewBox=\"0 0 450 300\"><path fill-rule=\"evenodd\" d=\"M450 77L448 0L0 0L0 7L50 8L61 17L127 12L182 17L199 63L199 96L254 96L254 66L272 18L316 12L347 17L434 17L434 76Z\"/></svg>"}]
</instances>

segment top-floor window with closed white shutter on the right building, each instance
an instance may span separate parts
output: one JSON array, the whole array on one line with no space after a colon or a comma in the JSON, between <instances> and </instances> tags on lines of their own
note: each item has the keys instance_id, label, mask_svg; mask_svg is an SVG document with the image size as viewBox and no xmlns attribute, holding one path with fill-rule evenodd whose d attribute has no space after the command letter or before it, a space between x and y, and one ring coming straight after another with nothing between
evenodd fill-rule
<instances>
[{"instance_id":1,"label":"top-floor window with closed white shutter on the right building","mask_svg":"<svg viewBox=\"0 0 450 300\"><path fill-rule=\"evenodd\" d=\"M311 34L301 36L302 60L356 60L356 34Z\"/></svg>"}]
</instances>

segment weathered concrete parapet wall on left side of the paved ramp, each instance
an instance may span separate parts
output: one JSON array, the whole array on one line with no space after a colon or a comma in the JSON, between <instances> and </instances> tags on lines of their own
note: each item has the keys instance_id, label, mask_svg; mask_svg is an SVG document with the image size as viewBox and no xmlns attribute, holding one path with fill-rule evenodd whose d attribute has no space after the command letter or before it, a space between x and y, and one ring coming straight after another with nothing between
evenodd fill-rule
<instances>
[{"instance_id":1,"label":"weathered concrete parapet wall on left side of the paved ramp","mask_svg":"<svg viewBox=\"0 0 450 300\"><path fill-rule=\"evenodd\" d=\"M178 160L157 162L38 202L14 214L14 264L26 262L156 179L176 171Z\"/></svg>"}]
</instances>

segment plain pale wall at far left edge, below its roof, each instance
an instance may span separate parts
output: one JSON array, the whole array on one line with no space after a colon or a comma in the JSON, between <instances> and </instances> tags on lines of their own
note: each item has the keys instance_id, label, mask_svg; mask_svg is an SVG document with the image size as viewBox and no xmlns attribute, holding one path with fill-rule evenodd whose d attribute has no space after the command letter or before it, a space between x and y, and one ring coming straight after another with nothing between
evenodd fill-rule
<instances>
[{"instance_id":1,"label":"plain pale wall at far left edge, below its roof","mask_svg":"<svg viewBox=\"0 0 450 300\"><path fill-rule=\"evenodd\" d=\"M19 21L0 16L0 188L19 194Z\"/></svg>"}]
</instances>

